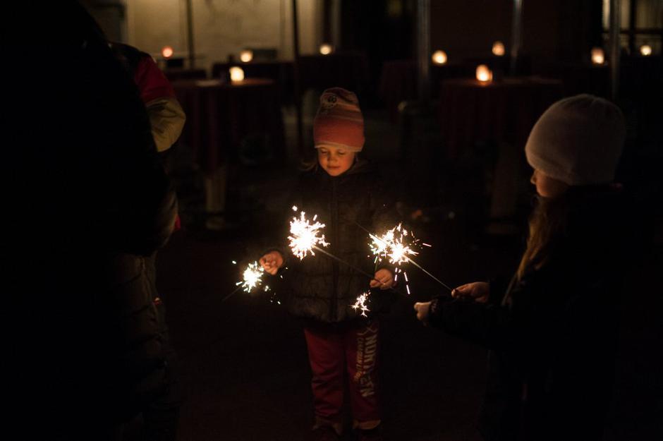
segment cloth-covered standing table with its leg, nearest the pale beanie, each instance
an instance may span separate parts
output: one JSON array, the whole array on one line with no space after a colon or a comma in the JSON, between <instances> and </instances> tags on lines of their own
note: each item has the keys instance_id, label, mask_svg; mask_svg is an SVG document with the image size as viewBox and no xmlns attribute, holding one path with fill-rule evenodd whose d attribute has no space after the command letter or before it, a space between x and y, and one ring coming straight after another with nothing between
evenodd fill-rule
<instances>
[{"instance_id":1,"label":"cloth-covered standing table with its leg, nearest the pale beanie","mask_svg":"<svg viewBox=\"0 0 663 441\"><path fill-rule=\"evenodd\" d=\"M562 83L547 78L443 80L439 121L449 159L475 143L499 146L490 215L508 218L516 209L519 171L528 135L539 116L563 95Z\"/></svg>"}]
</instances>

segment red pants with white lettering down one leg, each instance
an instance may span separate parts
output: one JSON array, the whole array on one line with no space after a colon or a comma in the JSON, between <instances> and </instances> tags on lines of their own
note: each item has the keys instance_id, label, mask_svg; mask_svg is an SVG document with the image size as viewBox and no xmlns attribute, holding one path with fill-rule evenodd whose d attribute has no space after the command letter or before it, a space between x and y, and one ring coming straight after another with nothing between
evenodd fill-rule
<instances>
[{"instance_id":1,"label":"red pants with white lettering down one leg","mask_svg":"<svg viewBox=\"0 0 663 441\"><path fill-rule=\"evenodd\" d=\"M313 378L316 425L329 424L340 433L343 378L348 389L355 426L371 429L380 423L377 391L377 321L370 325L316 325L304 335Z\"/></svg>"}]
</instances>

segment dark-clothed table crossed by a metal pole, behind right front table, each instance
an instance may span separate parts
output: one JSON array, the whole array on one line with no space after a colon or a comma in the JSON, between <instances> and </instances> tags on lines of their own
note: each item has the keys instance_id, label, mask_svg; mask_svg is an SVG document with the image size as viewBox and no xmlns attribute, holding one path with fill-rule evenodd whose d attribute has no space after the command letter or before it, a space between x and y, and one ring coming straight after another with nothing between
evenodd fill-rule
<instances>
[{"instance_id":1,"label":"dark-clothed table crossed by a metal pole, behind right front table","mask_svg":"<svg viewBox=\"0 0 663 441\"><path fill-rule=\"evenodd\" d=\"M431 96L436 99L440 80L446 78L469 77L472 68L465 64L432 64L430 66ZM395 123L399 119L399 104L416 99L418 95L417 63L415 60L391 60L382 64L379 79L379 97L389 110L389 119Z\"/></svg>"}]
</instances>

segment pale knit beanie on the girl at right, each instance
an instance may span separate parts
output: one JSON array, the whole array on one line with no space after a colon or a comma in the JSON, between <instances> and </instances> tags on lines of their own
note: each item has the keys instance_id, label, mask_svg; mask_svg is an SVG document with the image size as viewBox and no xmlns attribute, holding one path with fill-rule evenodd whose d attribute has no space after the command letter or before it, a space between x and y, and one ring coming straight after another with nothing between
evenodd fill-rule
<instances>
[{"instance_id":1,"label":"pale knit beanie on the girl at right","mask_svg":"<svg viewBox=\"0 0 663 441\"><path fill-rule=\"evenodd\" d=\"M552 104L525 145L530 165L570 186L609 183L621 155L626 125L619 107L593 95Z\"/></svg>"}]
</instances>

